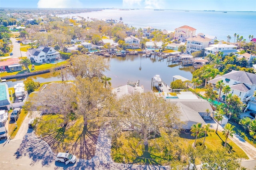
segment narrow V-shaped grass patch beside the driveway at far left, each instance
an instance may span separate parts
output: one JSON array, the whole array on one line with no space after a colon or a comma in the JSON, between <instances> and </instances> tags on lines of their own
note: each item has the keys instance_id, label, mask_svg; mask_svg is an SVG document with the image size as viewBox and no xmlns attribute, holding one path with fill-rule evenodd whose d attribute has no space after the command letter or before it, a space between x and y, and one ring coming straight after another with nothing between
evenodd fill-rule
<instances>
[{"instance_id":1,"label":"narrow V-shaped grass patch beside the driveway at far left","mask_svg":"<svg viewBox=\"0 0 256 170\"><path fill-rule=\"evenodd\" d=\"M25 117L27 116L27 113L24 111L24 109L21 109L20 116L18 117L18 120L17 120L17 127L16 127L16 124L14 123L14 121L10 121L11 113L12 113L12 109L9 111L9 115L8 115L8 118L9 118L8 119L9 120L8 132L11 135L11 138L13 139L16 136L20 126L22 125L22 123L25 119Z\"/></svg>"}]
</instances>

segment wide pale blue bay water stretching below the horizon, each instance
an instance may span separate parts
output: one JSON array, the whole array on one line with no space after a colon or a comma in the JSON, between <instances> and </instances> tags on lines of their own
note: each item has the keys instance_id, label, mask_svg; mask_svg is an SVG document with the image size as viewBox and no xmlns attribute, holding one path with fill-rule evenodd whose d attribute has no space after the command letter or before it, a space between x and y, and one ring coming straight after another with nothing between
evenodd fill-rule
<instances>
[{"instance_id":1,"label":"wide pale blue bay water stretching below the horizon","mask_svg":"<svg viewBox=\"0 0 256 170\"><path fill-rule=\"evenodd\" d=\"M174 29L187 25L196 29L196 34L203 33L216 36L218 40L234 42L234 33L243 36L247 41L248 36L256 38L256 12L220 12L220 11L185 11L185 10L119 10L106 9L78 14L65 14L59 17L82 16L85 19L97 18L98 20L114 19L135 28L151 26L156 29L174 31Z\"/></svg>"}]
</instances>

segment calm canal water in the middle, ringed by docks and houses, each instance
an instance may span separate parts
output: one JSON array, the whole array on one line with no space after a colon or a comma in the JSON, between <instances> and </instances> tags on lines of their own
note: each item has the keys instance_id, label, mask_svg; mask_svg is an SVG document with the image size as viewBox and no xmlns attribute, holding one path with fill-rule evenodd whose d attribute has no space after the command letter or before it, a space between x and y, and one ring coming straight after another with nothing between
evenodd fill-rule
<instances>
[{"instance_id":1,"label":"calm canal water in the middle, ringed by docks and houses","mask_svg":"<svg viewBox=\"0 0 256 170\"><path fill-rule=\"evenodd\" d=\"M104 57L105 58L105 57ZM144 92L151 91L151 81L154 75L158 74L170 86L174 75L181 75L189 80L192 79L193 67L182 67L175 63L168 63L167 59L152 55L145 57L142 55L126 55L126 57L111 56L105 58L110 63L110 70L105 75L111 77L112 87L127 85L130 81L140 81L144 86ZM46 73L42 75L31 76L30 78L40 83L49 81L60 81L61 78L57 73ZM14 87L17 83L25 79L11 79L6 83L8 87Z\"/></svg>"}]
</instances>

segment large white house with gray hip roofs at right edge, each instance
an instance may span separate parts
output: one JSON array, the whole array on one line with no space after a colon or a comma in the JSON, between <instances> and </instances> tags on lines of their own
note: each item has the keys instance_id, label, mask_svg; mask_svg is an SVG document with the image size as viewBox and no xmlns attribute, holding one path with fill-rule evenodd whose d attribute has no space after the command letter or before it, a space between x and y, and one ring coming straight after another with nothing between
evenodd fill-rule
<instances>
[{"instance_id":1,"label":"large white house with gray hip roofs at right edge","mask_svg":"<svg viewBox=\"0 0 256 170\"><path fill-rule=\"evenodd\" d=\"M224 75L217 75L208 83L215 87L219 80L222 80L225 85L230 86L231 91L228 94L237 95L243 103L247 104L248 109L256 111L256 99L253 97L256 91L256 74L232 70ZM214 90L219 91L216 88ZM225 101L226 94L221 92L220 96L220 101Z\"/></svg>"}]
</instances>

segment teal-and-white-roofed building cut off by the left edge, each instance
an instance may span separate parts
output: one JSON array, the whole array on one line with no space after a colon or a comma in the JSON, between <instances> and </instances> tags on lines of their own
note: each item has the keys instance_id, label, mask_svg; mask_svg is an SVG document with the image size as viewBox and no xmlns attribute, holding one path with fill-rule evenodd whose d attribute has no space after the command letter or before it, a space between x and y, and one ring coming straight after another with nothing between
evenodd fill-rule
<instances>
[{"instance_id":1,"label":"teal-and-white-roofed building cut off by the left edge","mask_svg":"<svg viewBox=\"0 0 256 170\"><path fill-rule=\"evenodd\" d=\"M9 105L11 104L8 85L6 82L0 83L0 107L7 107L10 110Z\"/></svg>"}]
</instances>

